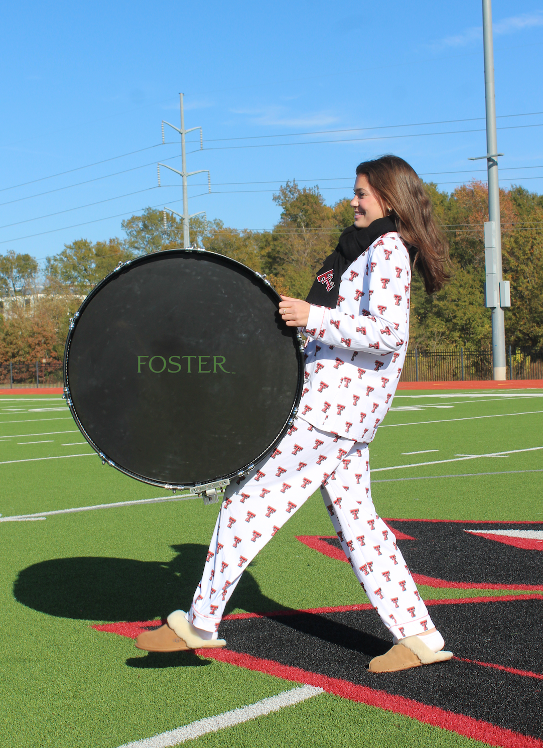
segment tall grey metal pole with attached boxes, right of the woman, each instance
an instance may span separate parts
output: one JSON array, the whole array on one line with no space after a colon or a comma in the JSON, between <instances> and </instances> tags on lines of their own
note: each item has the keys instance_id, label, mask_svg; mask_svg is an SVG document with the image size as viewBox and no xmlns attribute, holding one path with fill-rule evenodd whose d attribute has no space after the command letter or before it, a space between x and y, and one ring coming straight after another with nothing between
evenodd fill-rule
<instances>
[{"instance_id":1,"label":"tall grey metal pole with attached boxes, right of the woman","mask_svg":"<svg viewBox=\"0 0 543 748\"><path fill-rule=\"evenodd\" d=\"M488 218L485 222L485 306L492 319L492 366L494 379L506 378L506 334L503 308L511 306L509 281L503 281L500 184L498 182L496 96L494 93L494 43L491 0L482 0L482 38L485 54L486 159L488 166Z\"/></svg>"}]
</instances>

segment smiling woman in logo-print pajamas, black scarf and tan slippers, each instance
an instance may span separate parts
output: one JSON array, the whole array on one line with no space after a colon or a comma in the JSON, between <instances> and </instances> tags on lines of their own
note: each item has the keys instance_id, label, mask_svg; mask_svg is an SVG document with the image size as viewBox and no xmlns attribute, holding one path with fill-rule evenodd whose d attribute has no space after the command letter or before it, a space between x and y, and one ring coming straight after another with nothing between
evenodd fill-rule
<instances>
[{"instance_id":1,"label":"smiling woman in logo-print pajamas, black scarf and tan slippers","mask_svg":"<svg viewBox=\"0 0 543 748\"><path fill-rule=\"evenodd\" d=\"M453 655L372 503L369 443L390 408L409 335L410 252L426 292L447 280L447 245L417 174L382 156L356 170L355 222L325 260L306 301L281 296L286 325L307 337L306 384L295 425L225 491L202 580L188 613L140 634L139 649L225 646L224 607L243 569L320 486L334 530L393 646L369 663L393 672Z\"/></svg>"}]
</instances>

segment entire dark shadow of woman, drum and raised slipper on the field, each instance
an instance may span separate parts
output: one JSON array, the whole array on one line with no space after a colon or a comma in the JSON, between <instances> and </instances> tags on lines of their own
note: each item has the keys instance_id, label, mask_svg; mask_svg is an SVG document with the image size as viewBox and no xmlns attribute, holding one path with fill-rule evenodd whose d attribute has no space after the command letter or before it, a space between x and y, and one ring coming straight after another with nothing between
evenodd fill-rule
<instances>
[{"instance_id":1,"label":"entire dark shadow of woman, drum and raised slipper on the field","mask_svg":"<svg viewBox=\"0 0 543 748\"><path fill-rule=\"evenodd\" d=\"M176 555L168 562L138 561L107 557L51 559L28 566L19 572L13 595L19 603L49 616L96 623L136 622L162 619L178 608L188 610L194 589L206 561L207 546L187 543L175 545ZM381 654L390 647L382 640L333 622L318 614L297 614L263 594L249 568L242 576L233 607L252 613L289 612L273 618L282 630L310 634L316 640L346 646L356 652ZM221 630L236 647L243 640L251 621L225 621ZM283 628L285 627L285 628ZM278 633L278 632L277 632ZM241 643L239 640L239 643ZM383 649L384 648L384 649ZM126 665L135 668L190 667L207 665L211 660L194 652L148 652L129 657Z\"/></svg>"}]
</instances>

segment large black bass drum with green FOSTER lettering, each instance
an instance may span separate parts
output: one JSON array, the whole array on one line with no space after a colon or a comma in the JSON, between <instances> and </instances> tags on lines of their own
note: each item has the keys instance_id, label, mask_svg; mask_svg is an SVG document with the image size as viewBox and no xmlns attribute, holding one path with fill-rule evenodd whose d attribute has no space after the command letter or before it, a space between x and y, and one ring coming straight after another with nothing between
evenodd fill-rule
<instances>
[{"instance_id":1,"label":"large black bass drum with green FOSTER lettering","mask_svg":"<svg viewBox=\"0 0 543 748\"><path fill-rule=\"evenodd\" d=\"M277 292L235 260L172 249L124 263L70 323L64 387L102 460L165 488L243 474L298 408L304 354Z\"/></svg>"}]
</instances>

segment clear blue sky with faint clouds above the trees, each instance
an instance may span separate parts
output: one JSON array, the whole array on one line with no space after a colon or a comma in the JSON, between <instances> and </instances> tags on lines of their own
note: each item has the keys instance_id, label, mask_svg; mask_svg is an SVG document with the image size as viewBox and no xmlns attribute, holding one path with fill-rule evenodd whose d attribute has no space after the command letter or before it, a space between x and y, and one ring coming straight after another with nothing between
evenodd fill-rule
<instances>
[{"instance_id":1,"label":"clear blue sky with faint clouds above the trees","mask_svg":"<svg viewBox=\"0 0 543 748\"><path fill-rule=\"evenodd\" d=\"M542 192L543 4L494 0L493 16L500 184ZM271 228L286 180L334 203L381 153L447 191L485 179L467 160L486 151L477 0L22 1L4 9L0 55L1 253L43 260L123 236L147 205L182 212L180 177L156 186L157 161L181 168L179 135L159 145L179 91L185 126L203 127L188 169L212 180L206 194L190 178L190 210L227 226Z\"/></svg>"}]
</instances>

